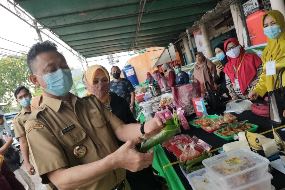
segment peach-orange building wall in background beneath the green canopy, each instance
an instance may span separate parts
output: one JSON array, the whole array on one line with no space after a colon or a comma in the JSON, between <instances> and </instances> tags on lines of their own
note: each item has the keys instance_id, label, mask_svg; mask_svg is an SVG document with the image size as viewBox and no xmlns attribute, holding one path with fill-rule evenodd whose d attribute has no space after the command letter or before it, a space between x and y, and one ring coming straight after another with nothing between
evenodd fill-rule
<instances>
[{"instance_id":1,"label":"peach-orange building wall in background beneath the green canopy","mask_svg":"<svg viewBox=\"0 0 285 190\"><path fill-rule=\"evenodd\" d=\"M159 49L162 49L162 47L147 48L145 53L139 54L138 56L130 59L128 65L132 65L135 68L137 77L139 79L139 83L145 82L146 72L152 73L154 70L156 70L156 69L153 70L152 67L158 60L156 58L159 58L163 52L163 50Z\"/></svg>"}]
</instances>

